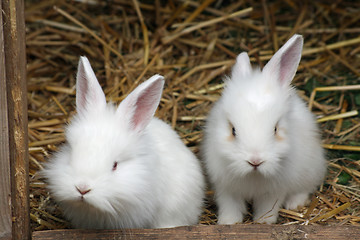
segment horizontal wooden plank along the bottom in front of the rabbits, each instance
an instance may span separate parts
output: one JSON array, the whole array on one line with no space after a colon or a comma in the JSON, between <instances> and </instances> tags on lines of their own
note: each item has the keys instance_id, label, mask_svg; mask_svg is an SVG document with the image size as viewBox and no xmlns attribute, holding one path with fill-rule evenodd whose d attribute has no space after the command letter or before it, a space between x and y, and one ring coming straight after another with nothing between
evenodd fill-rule
<instances>
[{"instance_id":1,"label":"horizontal wooden plank along the bottom in front of the rabbits","mask_svg":"<svg viewBox=\"0 0 360 240\"><path fill-rule=\"evenodd\" d=\"M355 226L197 225L168 229L52 230L33 232L49 239L360 239Z\"/></svg>"}]
</instances>

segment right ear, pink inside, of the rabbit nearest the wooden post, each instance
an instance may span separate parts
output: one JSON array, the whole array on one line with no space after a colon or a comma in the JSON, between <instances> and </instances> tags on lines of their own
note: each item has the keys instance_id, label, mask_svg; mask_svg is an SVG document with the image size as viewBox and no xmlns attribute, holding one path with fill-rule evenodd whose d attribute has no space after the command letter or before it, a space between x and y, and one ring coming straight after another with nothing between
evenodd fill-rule
<instances>
[{"instance_id":1,"label":"right ear, pink inside, of the rabbit nearest the wooden post","mask_svg":"<svg viewBox=\"0 0 360 240\"><path fill-rule=\"evenodd\" d=\"M163 87L164 77L156 74L121 102L117 112L128 119L132 130L140 132L149 124L159 105Z\"/></svg>"}]
</instances>

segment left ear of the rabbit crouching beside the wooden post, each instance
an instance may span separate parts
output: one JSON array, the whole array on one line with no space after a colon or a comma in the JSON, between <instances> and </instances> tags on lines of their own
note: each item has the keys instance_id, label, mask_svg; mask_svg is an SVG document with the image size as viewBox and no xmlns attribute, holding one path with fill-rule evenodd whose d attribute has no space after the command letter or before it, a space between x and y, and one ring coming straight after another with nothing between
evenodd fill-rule
<instances>
[{"instance_id":1,"label":"left ear of the rabbit crouching beside the wooden post","mask_svg":"<svg viewBox=\"0 0 360 240\"><path fill-rule=\"evenodd\" d=\"M106 106L105 94L96 79L86 57L80 57L76 75L76 110L84 113L90 109L104 108Z\"/></svg>"}]
</instances>

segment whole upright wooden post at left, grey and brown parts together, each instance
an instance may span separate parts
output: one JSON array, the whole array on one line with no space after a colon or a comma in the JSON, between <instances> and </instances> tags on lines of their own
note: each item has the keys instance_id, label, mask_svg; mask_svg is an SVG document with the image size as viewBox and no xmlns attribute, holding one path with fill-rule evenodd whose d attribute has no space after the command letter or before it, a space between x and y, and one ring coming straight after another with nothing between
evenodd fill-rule
<instances>
[{"instance_id":1,"label":"whole upright wooden post at left, grey and brown parts together","mask_svg":"<svg viewBox=\"0 0 360 240\"><path fill-rule=\"evenodd\" d=\"M24 2L0 10L0 239L30 239Z\"/></svg>"}]
</instances>

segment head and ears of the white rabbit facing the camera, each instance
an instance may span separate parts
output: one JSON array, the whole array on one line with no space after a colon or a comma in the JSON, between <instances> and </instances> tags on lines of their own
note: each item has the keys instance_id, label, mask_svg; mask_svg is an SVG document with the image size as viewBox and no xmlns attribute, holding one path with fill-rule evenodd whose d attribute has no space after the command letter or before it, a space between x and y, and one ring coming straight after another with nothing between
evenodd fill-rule
<instances>
[{"instance_id":1,"label":"head and ears of the white rabbit facing the camera","mask_svg":"<svg viewBox=\"0 0 360 240\"><path fill-rule=\"evenodd\" d=\"M290 83L295 75L303 39L293 36L271 58L262 71L252 69L249 57L241 53L226 80L223 95L215 108L223 139L219 147L236 175L275 175L283 169L283 157L290 150L293 127L290 112L296 111ZM210 121L212 121L210 119Z\"/></svg>"}]
</instances>

